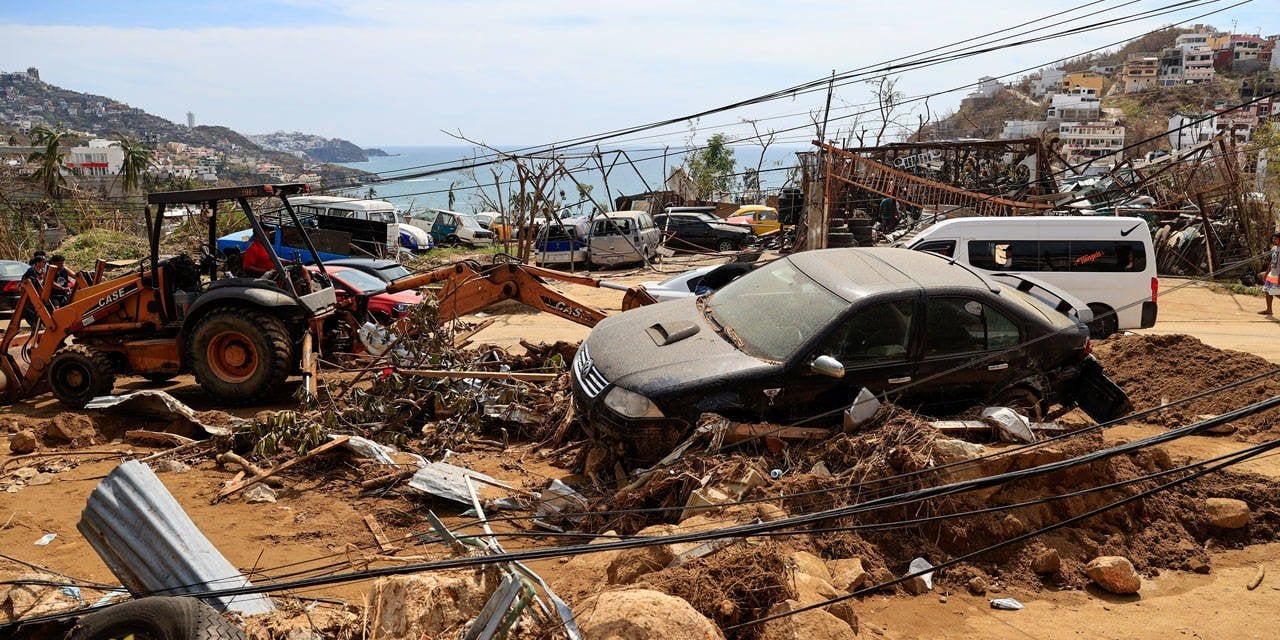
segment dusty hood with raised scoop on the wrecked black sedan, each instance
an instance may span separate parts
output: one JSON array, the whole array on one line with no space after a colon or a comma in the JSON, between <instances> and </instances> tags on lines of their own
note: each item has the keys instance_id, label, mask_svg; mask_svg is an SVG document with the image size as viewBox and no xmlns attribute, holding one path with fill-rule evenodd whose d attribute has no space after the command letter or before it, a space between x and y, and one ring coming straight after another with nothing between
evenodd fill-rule
<instances>
[{"instance_id":1,"label":"dusty hood with raised scoop on the wrecked black sedan","mask_svg":"<svg viewBox=\"0 0 1280 640\"><path fill-rule=\"evenodd\" d=\"M696 333L680 338L690 328ZM659 346L655 335L666 344ZM742 353L707 323L698 298L640 307L602 321L586 338L591 362L609 383L659 399L726 376L781 365Z\"/></svg>"}]
</instances>

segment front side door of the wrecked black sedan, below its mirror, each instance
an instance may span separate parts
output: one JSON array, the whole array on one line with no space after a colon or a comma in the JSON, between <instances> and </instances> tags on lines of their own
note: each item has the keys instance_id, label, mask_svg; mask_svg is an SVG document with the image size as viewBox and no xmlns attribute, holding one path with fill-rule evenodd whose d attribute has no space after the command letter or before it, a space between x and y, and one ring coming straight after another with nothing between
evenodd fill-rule
<instances>
[{"instance_id":1,"label":"front side door of the wrecked black sedan, below its mirror","mask_svg":"<svg viewBox=\"0 0 1280 640\"><path fill-rule=\"evenodd\" d=\"M916 298L905 296L868 301L852 308L787 376L783 394L776 401L786 407L786 415L774 410L774 417L803 420L844 410L863 388L879 396L909 384L915 370L910 346L916 307ZM819 356L838 360L845 375L831 378L813 371L810 364Z\"/></svg>"}]
</instances>

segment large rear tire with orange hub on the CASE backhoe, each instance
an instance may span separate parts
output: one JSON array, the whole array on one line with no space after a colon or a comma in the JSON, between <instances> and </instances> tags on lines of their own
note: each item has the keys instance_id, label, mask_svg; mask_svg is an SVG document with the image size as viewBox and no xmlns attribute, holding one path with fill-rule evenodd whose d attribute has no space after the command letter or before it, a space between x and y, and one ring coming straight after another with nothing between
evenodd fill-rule
<instances>
[{"instance_id":1,"label":"large rear tire with orange hub on the CASE backhoe","mask_svg":"<svg viewBox=\"0 0 1280 640\"><path fill-rule=\"evenodd\" d=\"M252 404L289 376L293 343L279 317L242 307L215 308L191 332L187 358L196 381L229 404Z\"/></svg>"}]
</instances>

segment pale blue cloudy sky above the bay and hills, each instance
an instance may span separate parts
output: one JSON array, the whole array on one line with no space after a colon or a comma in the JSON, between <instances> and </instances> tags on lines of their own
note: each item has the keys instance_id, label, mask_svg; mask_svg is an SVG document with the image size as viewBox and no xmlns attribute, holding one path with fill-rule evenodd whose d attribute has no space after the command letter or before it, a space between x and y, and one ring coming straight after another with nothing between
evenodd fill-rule
<instances>
[{"instance_id":1,"label":"pale blue cloudy sky above the bay and hills","mask_svg":"<svg viewBox=\"0 0 1280 640\"><path fill-rule=\"evenodd\" d=\"M1280 33L1275 1L1184 3L1183 10L1126 24L901 70L895 88L909 97L940 93L928 101L928 113L937 114L954 109L980 76L1012 79L1165 24ZM1000 35L972 44L1027 40L1172 4L0 0L0 70L36 67L63 88L179 123L193 111L197 124L242 133L302 131L361 146L463 143L454 136L549 145L735 104L832 72L870 74L991 32ZM1068 22L1048 27L1060 20ZM1046 28L1018 36L1038 27ZM832 128L878 128L863 113L870 91L867 82L837 87ZM717 132L744 140L753 134L744 119L751 119L756 131L777 132L776 142L804 143L824 102L826 91L815 91L614 142L680 145ZM902 104L895 128L924 114L923 100Z\"/></svg>"}]
</instances>

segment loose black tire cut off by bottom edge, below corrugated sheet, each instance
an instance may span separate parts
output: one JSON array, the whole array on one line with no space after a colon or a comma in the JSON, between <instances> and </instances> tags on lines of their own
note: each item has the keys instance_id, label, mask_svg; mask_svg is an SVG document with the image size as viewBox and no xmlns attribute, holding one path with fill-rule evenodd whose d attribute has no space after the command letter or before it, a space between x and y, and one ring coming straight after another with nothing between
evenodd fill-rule
<instances>
[{"instance_id":1,"label":"loose black tire cut off by bottom edge, below corrugated sheet","mask_svg":"<svg viewBox=\"0 0 1280 640\"><path fill-rule=\"evenodd\" d=\"M244 630L195 598L141 598L81 618L70 640L244 640Z\"/></svg>"}]
</instances>

